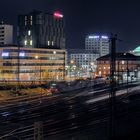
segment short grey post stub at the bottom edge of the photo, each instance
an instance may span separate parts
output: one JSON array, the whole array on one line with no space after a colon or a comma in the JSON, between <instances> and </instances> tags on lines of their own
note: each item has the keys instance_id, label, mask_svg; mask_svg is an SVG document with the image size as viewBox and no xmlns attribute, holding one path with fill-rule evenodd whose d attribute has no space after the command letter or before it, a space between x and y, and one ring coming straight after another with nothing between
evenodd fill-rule
<instances>
[{"instance_id":1,"label":"short grey post stub at the bottom edge of the photo","mask_svg":"<svg viewBox=\"0 0 140 140\"><path fill-rule=\"evenodd\" d=\"M43 124L42 122L34 123L34 140L43 140Z\"/></svg>"}]
</instances>

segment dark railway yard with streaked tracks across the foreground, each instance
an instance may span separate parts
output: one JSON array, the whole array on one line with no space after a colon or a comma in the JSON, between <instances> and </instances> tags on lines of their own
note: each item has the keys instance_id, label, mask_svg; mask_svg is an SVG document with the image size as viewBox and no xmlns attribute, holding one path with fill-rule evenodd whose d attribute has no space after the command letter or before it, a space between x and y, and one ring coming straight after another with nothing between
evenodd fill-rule
<instances>
[{"instance_id":1,"label":"dark railway yard with streaked tracks across the foreground","mask_svg":"<svg viewBox=\"0 0 140 140\"><path fill-rule=\"evenodd\" d=\"M91 83L90 83L91 84ZM116 135L121 139L130 130L138 129L140 117L138 84L119 87L116 93ZM82 90L53 96L16 100L0 105L0 139L33 139L34 122L42 122L43 137L49 140L109 139L110 87L91 85ZM133 96L132 96L133 97ZM133 121L135 120L135 121ZM129 125L131 122L131 125ZM134 122L134 123L132 123ZM136 123L137 122L137 123ZM137 127L134 127L136 125ZM133 128L133 129L132 129Z\"/></svg>"}]
</instances>

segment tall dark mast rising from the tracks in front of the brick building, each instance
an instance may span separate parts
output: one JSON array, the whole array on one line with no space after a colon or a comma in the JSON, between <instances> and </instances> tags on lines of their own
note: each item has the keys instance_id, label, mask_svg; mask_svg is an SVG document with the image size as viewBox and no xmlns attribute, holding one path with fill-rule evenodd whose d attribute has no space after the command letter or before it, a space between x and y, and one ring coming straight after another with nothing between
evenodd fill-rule
<instances>
[{"instance_id":1,"label":"tall dark mast rising from the tracks in front of the brick building","mask_svg":"<svg viewBox=\"0 0 140 140\"><path fill-rule=\"evenodd\" d=\"M110 38L110 140L115 140L115 104L116 104L116 40L117 35L111 34Z\"/></svg>"}]
</instances>

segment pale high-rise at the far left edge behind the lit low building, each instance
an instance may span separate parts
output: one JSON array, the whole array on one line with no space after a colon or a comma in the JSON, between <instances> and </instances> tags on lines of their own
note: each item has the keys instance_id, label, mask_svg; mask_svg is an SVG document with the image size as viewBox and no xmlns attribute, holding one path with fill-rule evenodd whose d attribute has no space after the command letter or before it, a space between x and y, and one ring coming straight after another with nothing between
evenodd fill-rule
<instances>
[{"instance_id":1,"label":"pale high-rise at the far left edge behind the lit low building","mask_svg":"<svg viewBox=\"0 0 140 140\"><path fill-rule=\"evenodd\" d=\"M12 44L13 43L13 26L0 24L0 45Z\"/></svg>"}]
</instances>

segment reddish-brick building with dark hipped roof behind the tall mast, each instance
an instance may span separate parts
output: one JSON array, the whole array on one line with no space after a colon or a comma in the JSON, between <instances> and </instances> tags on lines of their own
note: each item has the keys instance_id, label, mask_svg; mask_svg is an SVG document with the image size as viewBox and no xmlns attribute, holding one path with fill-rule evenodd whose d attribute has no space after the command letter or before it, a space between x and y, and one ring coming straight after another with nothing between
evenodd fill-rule
<instances>
[{"instance_id":1,"label":"reddish-brick building with dark hipped roof behind the tall mast","mask_svg":"<svg viewBox=\"0 0 140 140\"><path fill-rule=\"evenodd\" d=\"M130 53L116 54L115 74L121 79L128 76L140 77L140 57ZM97 59L96 75L108 77L110 75L110 55L105 55Z\"/></svg>"}]
</instances>

